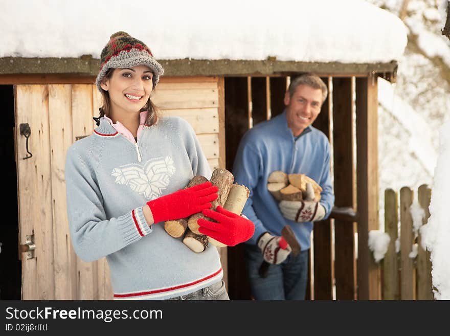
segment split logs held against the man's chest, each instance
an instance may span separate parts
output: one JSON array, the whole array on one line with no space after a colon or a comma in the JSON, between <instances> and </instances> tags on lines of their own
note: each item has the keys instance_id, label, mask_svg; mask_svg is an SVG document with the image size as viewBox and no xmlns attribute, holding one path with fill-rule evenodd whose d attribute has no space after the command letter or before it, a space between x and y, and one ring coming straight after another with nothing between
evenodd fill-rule
<instances>
[{"instance_id":1,"label":"split logs held against the man's chest","mask_svg":"<svg viewBox=\"0 0 450 336\"><path fill-rule=\"evenodd\" d=\"M306 197L307 184L312 187L311 194L316 201L320 200L322 187L305 174L286 174L281 170L274 171L267 178L267 190L277 200L303 200Z\"/></svg>"}]
</instances>

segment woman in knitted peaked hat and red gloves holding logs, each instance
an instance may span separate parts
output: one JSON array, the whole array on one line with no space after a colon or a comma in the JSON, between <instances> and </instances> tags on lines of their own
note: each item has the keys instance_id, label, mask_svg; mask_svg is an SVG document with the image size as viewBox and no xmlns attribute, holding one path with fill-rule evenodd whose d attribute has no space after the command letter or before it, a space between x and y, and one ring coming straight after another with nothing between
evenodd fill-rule
<instances>
[{"instance_id":1,"label":"woman in knitted peaked hat and red gloves holding logs","mask_svg":"<svg viewBox=\"0 0 450 336\"><path fill-rule=\"evenodd\" d=\"M194 253L168 235L165 220L197 212L200 232L228 245L249 239L253 223L218 207L192 127L159 118L150 96L164 70L125 32L110 37L96 79L104 104L93 135L74 143L65 166L69 225L77 255L106 256L115 299L228 300L217 249Z\"/></svg>"}]
</instances>

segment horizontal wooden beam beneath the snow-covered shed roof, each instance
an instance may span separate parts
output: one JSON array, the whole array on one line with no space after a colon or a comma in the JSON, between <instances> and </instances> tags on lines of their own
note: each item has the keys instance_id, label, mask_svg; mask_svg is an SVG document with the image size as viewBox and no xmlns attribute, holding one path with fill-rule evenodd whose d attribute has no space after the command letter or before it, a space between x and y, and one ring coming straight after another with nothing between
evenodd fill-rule
<instances>
[{"instance_id":1,"label":"horizontal wooden beam beneath the snow-covered shed roof","mask_svg":"<svg viewBox=\"0 0 450 336\"><path fill-rule=\"evenodd\" d=\"M168 76L283 76L288 73L312 72L320 76L363 76L371 72L378 74L393 72L395 61L389 63L340 63L340 62L296 62L278 60L158 60ZM0 75L9 74L78 74L97 76L100 60L90 55L80 58L28 58L0 57Z\"/></svg>"}]
</instances>

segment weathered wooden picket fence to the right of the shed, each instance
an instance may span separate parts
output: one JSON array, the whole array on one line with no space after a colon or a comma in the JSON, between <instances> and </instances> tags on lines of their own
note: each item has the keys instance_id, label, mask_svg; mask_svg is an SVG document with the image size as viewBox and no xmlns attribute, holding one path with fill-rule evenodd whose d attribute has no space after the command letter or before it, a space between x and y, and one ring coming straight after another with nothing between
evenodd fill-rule
<instances>
[{"instance_id":1,"label":"weathered wooden picket fence to the right of the shed","mask_svg":"<svg viewBox=\"0 0 450 336\"><path fill-rule=\"evenodd\" d=\"M381 293L383 300L433 300L430 252L420 243L420 231L413 231L413 218L410 207L414 191L408 187L400 189L398 195L392 189L385 191L385 232L391 237L389 248L381 264ZM425 216L425 224L430 217L429 205L431 189L421 185L418 189L418 201ZM400 218L400 251L396 252L395 241L398 237L398 218ZM413 244L417 243L417 256L410 258Z\"/></svg>"}]
</instances>

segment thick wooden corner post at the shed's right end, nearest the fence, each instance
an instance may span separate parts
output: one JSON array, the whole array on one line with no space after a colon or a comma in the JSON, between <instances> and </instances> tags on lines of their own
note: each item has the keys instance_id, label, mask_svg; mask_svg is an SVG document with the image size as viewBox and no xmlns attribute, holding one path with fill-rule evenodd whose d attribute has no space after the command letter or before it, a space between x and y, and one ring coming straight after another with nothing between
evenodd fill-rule
<instances>
[{"instance_id":1,"label":"thick wooden corner post at the shed's right end, nearest the fence","mask_svg":"<svg viewBox=\"0 0 450 336\"><path fill-rule=\"evenodd\" d=\"M380 269L369 251L369 231L378 229L377 79L356 78L356 186L359 300L381 298Z\"/></svg>"}]
</instances>

